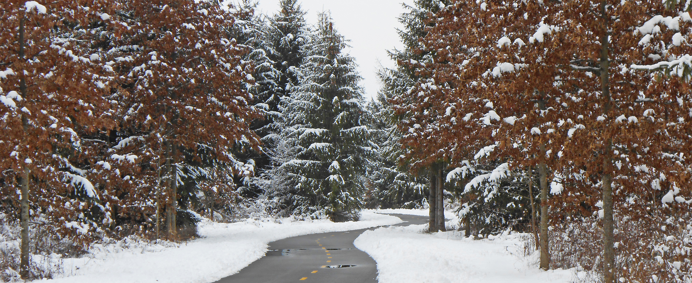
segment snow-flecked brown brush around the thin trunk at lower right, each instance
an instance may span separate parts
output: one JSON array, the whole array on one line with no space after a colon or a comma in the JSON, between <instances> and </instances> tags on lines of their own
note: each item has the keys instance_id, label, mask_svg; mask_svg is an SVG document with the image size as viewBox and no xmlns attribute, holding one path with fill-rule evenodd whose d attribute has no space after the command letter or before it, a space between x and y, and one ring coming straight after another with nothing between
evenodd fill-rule
<instances>
[{"instance_id":1,"label":"snow-flecked brown brush around the thin trunk at lower right","mask_svg":"<svg viewBox=\"0 0 692 283\"><path fill-rule=\"evenodd\" d=\"M641 207L640 207L641 208ZM629 210L621 208L620 212ZM616 214L616 268L620 282L692 282L692 226L689 209L640 210L639 217ZM629 214L629 213L628 213ZM576 268L599 276L603 268L603 223L598 215L566 219L549 232L551 268ZM596 281L591 281L596 280Z\"/></svg>"}]
</instances>

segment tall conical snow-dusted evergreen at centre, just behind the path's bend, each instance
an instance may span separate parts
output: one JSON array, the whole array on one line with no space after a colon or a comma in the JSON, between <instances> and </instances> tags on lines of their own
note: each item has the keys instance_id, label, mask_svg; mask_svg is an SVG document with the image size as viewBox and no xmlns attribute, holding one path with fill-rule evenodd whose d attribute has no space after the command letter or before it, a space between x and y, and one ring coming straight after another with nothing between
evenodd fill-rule
<instances>
[{"instance_id":1,"label":"tall conical snow-dusted evergreen at centre, just behind the path's bend","mask_svg":"<svg viewBox=\"0 0 692 283\"><path fill-rule=\"evenodd\" d=\"M354 58L327 13L302 46L298 92L286 98L273 190L284 207L333 221L358 219L365 159L372 154Z\"/></svg>"}]
</instances>

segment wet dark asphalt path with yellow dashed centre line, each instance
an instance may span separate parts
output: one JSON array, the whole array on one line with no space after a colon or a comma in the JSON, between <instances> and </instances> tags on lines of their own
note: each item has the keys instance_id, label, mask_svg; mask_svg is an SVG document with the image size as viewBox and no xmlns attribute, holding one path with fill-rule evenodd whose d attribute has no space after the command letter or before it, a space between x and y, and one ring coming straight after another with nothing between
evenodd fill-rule
<instances>
[{"instance_id":1,"label":"wet dark asphalt path with yellow dashed centre line","mask_svg":"<svg viewBox=\"0 0 692 283\"><path fill-rule=\"evenodd\" d=\"M428 223L428 217L390 215L408 221L393 226ZM376 283L375 261L353 245L362 232L372 229L311 234L273 241L269 243L270 251L264 257L217 283Z\"/></svg>"}]
</instances>

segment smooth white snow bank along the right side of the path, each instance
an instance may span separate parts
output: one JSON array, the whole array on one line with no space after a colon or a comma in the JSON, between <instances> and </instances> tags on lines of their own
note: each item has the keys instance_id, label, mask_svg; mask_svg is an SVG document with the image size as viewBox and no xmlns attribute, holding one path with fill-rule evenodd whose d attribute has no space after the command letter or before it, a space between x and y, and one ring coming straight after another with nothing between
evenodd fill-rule
<instances>
[{"instance_id":1,"label":"smooth white snow bank along the right side of the path","mask_svg":"<svg viewBox=\"0 0 692 283\"><path fill-rule=\"evenodd\" d=\"M356 239L377 262L379 283L571 282L574 271L540 271L518 235L473 240L462 232L424 234L425 225L378 228Z\"/></svg>"}]
</instances>

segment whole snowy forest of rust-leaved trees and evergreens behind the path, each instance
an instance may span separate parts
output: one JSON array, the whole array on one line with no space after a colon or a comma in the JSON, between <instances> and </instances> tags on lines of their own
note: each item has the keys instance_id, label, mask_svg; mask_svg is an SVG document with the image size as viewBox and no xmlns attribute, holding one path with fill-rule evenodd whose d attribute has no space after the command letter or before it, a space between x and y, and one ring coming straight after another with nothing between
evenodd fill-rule
<instances>
[{"instance_id":1,"label":"whole snowy forest of rust-leaved trees and evergreens behind the path","mask_svg":"<svg viewBox=\"0 0 692 283\"><path fill-rule=\"evenodd\" d=\"M3 280L201 216L427 208L541 268L692 281L689 1L417 0L370 101L328 12L141 2L0 4Z\"/></svg>"}]
</instances>

